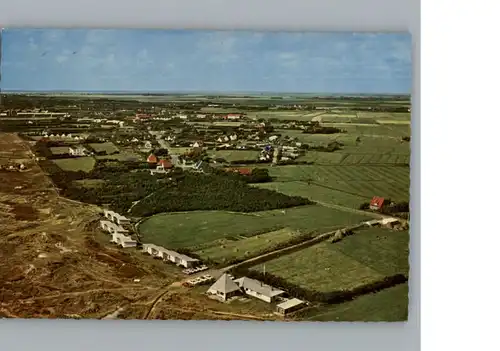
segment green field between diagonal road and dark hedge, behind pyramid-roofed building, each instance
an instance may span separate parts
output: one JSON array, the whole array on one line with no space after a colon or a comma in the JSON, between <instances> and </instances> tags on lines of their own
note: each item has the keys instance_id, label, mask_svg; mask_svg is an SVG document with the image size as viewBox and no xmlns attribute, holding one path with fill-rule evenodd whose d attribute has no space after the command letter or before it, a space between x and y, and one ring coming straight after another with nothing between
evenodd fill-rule
<instances>
[{"instance_id":1,"label":"green field between diagonal road and dark hedge, behind pyramid-roofed building","mask_svg":"<svg viewBox=\"0 0 500 351\"><path fill-rule=\"evenodd\" d=\"M340 242L324 241L252 269L303 288L330 292L351 289L384 276L408 274L408 232L373 228Z\"/></svg>"}]
</instances>

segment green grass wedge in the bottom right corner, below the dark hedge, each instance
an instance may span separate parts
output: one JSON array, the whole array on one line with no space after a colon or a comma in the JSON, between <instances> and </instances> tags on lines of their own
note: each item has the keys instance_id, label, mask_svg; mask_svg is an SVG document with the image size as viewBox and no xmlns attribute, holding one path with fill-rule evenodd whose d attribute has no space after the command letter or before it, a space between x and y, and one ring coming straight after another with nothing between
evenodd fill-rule
<instances>
[{"instance_id":1,"label":"green grass wedge in the bottom right corner, below the dark hedge","mask_svg":"<svg viewBox=\"0 0 500 351\"><path fill-rule=\"evenodd\" d=\"M398 322L408 318L408 284L401 284L342 304L308 311L305 320Z\"/></svg>"}]
</instances>

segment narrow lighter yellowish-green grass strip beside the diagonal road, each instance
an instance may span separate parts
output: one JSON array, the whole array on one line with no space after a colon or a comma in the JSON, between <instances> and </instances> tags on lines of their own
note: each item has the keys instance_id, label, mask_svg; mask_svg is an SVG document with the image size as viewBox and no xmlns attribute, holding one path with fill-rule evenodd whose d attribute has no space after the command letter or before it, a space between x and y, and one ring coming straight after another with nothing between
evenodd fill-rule
<instances>
[{"instance_id":1,"label":"narrow lighter yellowish-green grass strip beside the diagonal road","mask_svg":"<svg viewBox=\"0 0 500 351\"><path fill-rule=\"evenodd\" d=\"M272 231L252 237L241 237L239 240L219 239L203 245L195 251L202 258L210 258L217 262L231 259L251 257L267 247L286 242L298 236L289 228Z\"/></svg>"}]
</instances>

